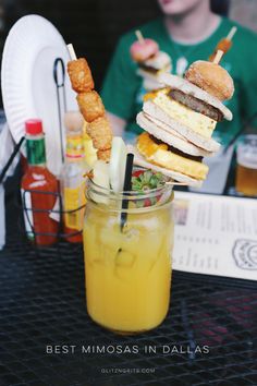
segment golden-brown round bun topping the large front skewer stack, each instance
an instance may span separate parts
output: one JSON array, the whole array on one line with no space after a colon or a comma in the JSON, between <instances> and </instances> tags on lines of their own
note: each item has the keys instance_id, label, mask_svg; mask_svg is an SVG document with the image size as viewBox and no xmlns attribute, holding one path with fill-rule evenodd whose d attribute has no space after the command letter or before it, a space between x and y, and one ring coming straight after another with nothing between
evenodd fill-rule
<instances>
[{"instance_id":1,"label":"golden-brown round bun topping the large front skewer stack","mask_svg":"<svg viewBox=\"0 0 257 386\"><path fill-rule=\"evenodd\" d=\"M185 79L220 100L231 99L234 94L234 83L228 71L212 62L197 60L186 71Z\"/></svg>"}]
</instances>

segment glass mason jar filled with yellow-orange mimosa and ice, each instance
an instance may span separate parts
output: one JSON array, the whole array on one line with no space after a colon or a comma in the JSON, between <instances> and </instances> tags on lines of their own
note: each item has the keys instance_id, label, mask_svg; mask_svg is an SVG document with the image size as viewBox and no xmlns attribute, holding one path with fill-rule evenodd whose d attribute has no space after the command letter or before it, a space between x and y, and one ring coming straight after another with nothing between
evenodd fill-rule
<instances>
[{"instance_id":1,"label":"glass mason jar filled with yellow-orange mimosa and ice","mask_svg":"<svg viewBox=\"0 0 257 386\"><path fill-rule=\"evenodd\" d=\"M84 255L87 311L120 334L160 325L169 310L172 185L145 192L87 184Z\"/></svg>"}]
</instances>

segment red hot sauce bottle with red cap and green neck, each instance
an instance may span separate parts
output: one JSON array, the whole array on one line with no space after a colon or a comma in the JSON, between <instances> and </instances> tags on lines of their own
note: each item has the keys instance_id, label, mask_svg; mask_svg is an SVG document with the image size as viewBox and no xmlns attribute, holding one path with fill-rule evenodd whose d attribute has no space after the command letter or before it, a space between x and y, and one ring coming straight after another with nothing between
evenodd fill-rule
<instances>
[{"instance_id":1,"label":"red hot sauce bottle with red cap and green neck","mask_svg":"<svg viewBox=\"0 0 257 386\"><path fill-rule=\"evenodd\" d=\"M37 245L57 241L59 222L50 215L58 200L58 181L46 167L45 134L38 119L25 122L26 173L22 179L24 221L28 239Z\"/></svg>"}]
</instances>

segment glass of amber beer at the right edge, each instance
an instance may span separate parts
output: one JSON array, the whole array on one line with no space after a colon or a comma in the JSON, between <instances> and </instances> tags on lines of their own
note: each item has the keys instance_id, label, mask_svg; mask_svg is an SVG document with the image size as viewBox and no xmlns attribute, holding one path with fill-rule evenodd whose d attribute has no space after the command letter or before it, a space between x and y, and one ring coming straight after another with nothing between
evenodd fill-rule
<instances>
[{"instance_id":1,"label":"glass of amber beer at the right edge","mask_svg":"<svg viewBox=\"0 0 257 386\"><path fill-rule=\"evenodd\" d=\"M235 189L248 196L257 196L257 135L245 135L236 150Z\"/></svg>"}]
</instances>

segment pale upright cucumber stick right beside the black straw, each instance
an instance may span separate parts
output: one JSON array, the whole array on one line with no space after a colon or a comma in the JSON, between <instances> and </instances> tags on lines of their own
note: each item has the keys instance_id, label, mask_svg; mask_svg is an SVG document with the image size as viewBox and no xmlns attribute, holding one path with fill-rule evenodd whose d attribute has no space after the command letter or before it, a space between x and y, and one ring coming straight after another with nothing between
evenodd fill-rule
<instances>
[{"instance_id":1,"label":"pale upright cucumber stick right beside the black straw","mask_svg":"<svg viewBox=\"0 0 257 386\"><path fill-rule=\"evenodd\" d=\"M110 158L110 184L118 193L123 191L127 149L121 136L113 136Z\"/></svg>"}]
</instances>

